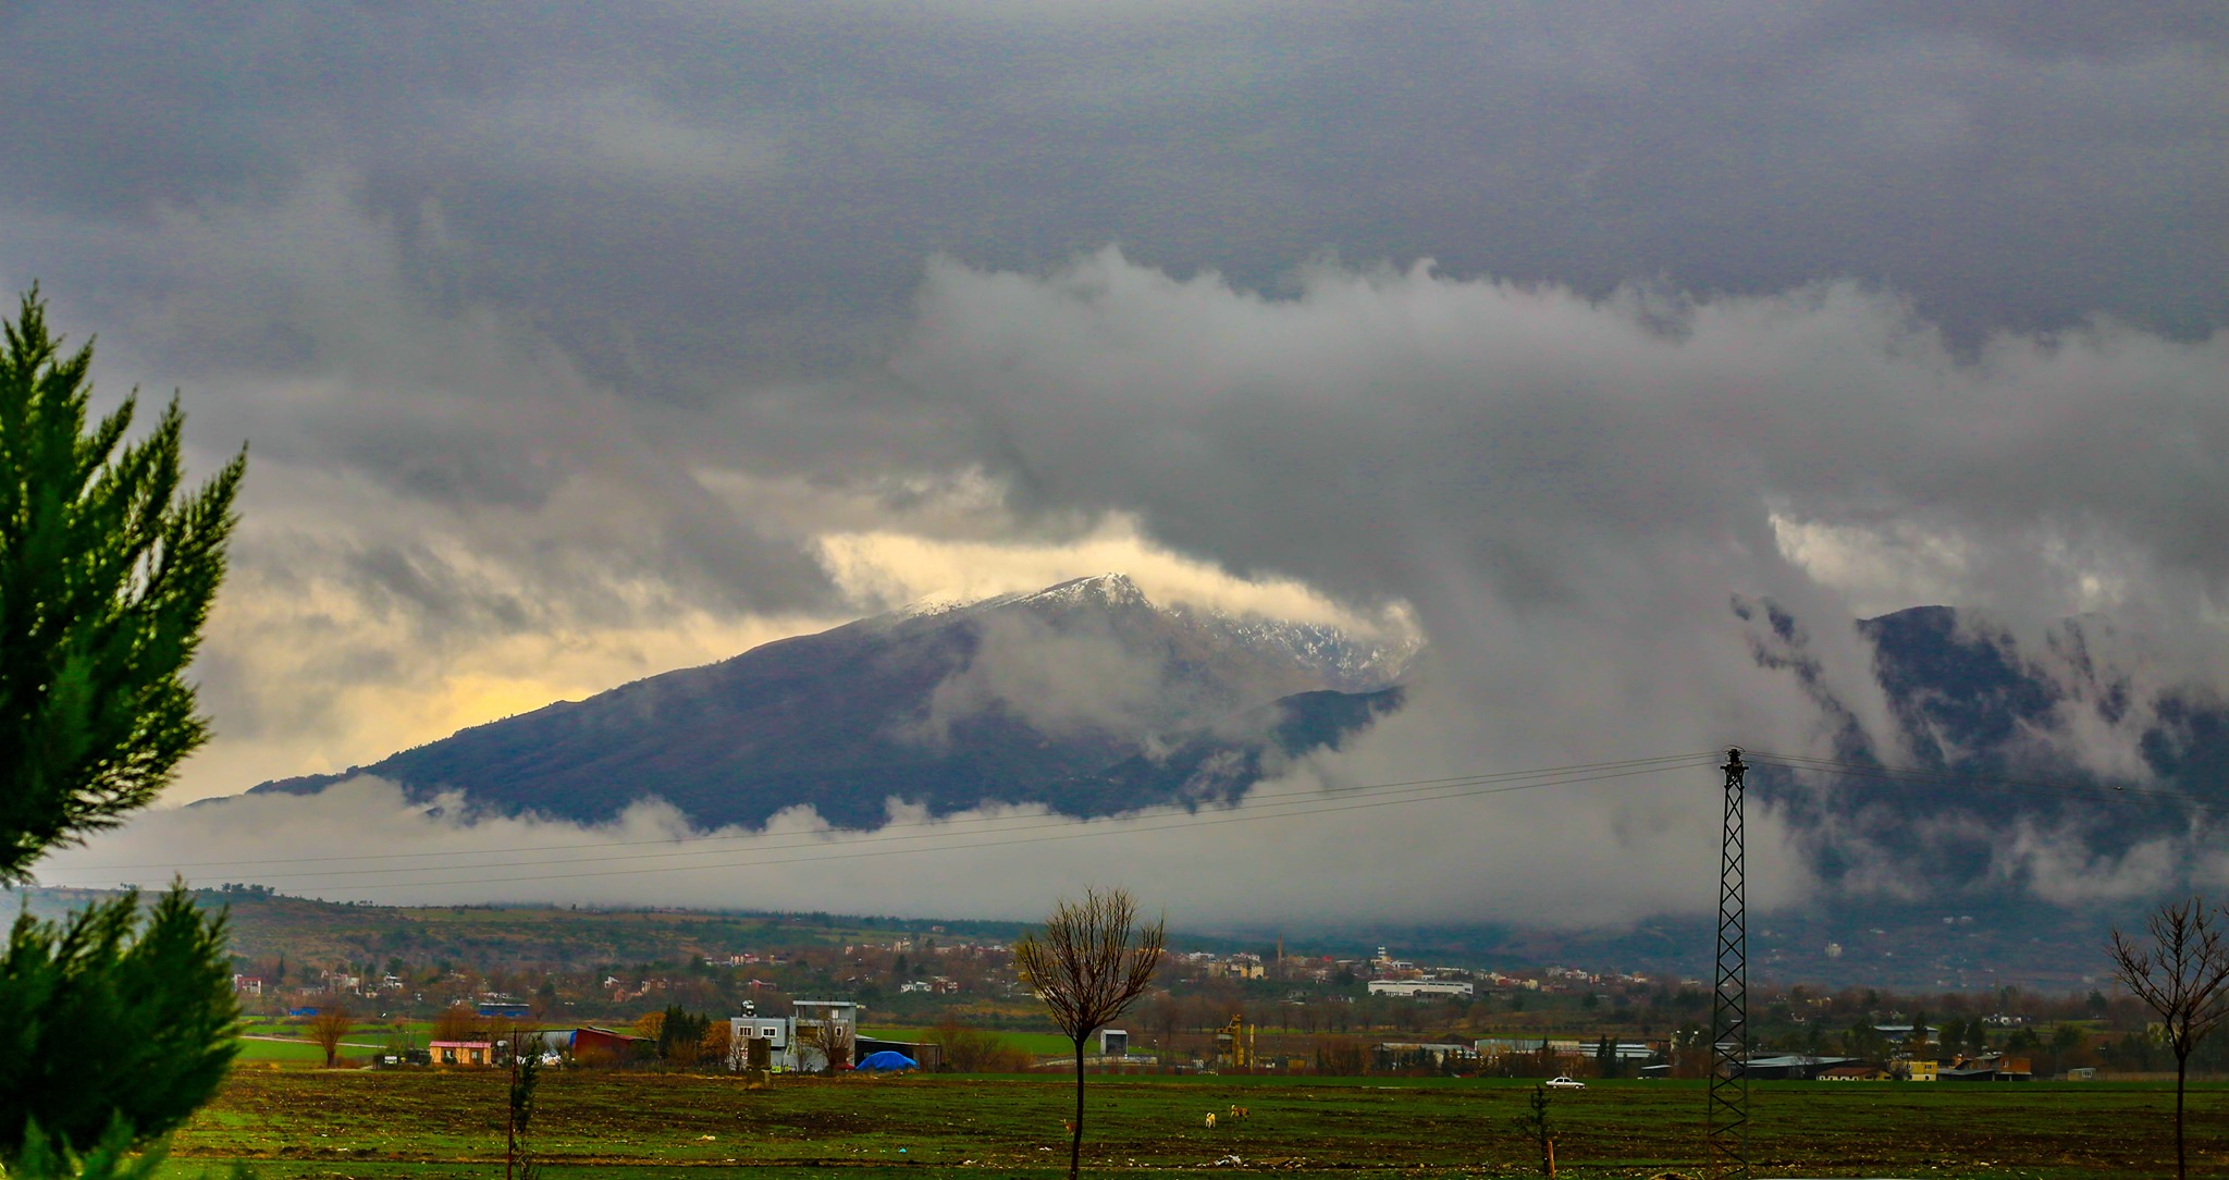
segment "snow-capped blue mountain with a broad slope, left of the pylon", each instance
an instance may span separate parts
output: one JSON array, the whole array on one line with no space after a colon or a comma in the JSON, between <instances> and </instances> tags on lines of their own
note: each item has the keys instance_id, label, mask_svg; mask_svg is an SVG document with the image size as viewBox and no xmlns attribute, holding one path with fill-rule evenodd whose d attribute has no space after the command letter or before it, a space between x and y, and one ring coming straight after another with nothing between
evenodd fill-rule
<instances>
[{"instance_id":1,"label":"snow-capped blue mountain with a broad slope, left of the pylon","mask_svg":"<svg viewBox=\"0 0 2229 1180\"><path fill-rule=\"evenodd\" d=\"M914 604L252 792L374 774L417 799L461 790L475 807L571 821L660 796L702 825L811 805L845 828L878 825L885 799L932 814L1204 803L1398 707L1389 685L1411 654L1157 607L1110 573Z\"/></svg>"}]
</instances>

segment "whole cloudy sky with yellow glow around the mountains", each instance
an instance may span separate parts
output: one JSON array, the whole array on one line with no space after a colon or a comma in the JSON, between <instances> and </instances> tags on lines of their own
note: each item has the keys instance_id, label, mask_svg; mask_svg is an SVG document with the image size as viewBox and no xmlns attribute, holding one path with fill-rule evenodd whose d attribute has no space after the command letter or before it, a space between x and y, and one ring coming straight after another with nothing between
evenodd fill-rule
<instances>
[{"instance_id":1,"label":"whole cloudy sky with yellow glow around the mountains","mask_svg":"<svg viewBox=\"0 0 2229 1180\"><path fill-rule=\"evenodd\" d=\"M1411 709L1300 790L1823 749L1741 602L1884 734L1848 620L1899 607L2109 616L2160 685L2229 665L2220 4L29 2L0 65L0 286L98 337L107 404L176 390L194 471L250 451L194 669L216 741L169 803L1108 569L1429 636ZM2140 772L2131 734L2037 741ZM1028 917L1181 879L1217 919L1605 921L1714 870L1676 803L1707 778L533 888ZM345 803L53 863L624 836ZM1763 894L1803 897L1756 832ZM1291 848L1375 868L1297 888ZM2019 848L2220 872L2196 836ZM1464 868L1391 901L1411 863Z\"/></svg>"}]
</instances>

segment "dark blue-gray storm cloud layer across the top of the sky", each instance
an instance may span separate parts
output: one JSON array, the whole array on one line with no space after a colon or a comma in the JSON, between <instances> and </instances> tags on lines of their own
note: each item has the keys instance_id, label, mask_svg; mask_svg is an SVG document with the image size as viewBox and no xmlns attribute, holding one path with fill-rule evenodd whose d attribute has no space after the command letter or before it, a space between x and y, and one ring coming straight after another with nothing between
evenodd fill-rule
<instances>
[{"instance_id":1,"label":"dark blue-gray storm cloud layer across the top of the sky","mask_svg":"<svg viewBox=\"0 0 2229 1180\"><path fill-rule=\"evenodd\" d=\"M2229 315L2225 29L2213 4L13 7L0 100L38 114L0 165L13 210L120 225L339 172L415 299L522 308L671 397L872 350L929 252L1108 241L1255 286L1429 254L1594 292L1875 279L1962 332L2200 332Z\"/></svg>"}]
</instances>

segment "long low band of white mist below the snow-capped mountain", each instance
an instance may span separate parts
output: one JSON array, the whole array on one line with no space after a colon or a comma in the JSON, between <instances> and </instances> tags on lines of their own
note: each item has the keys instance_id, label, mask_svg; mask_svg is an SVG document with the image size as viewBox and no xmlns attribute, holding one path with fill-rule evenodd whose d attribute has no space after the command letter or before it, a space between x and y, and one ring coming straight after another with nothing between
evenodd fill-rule
<instances>
[{"instance_id":1,"label":"long low band of white mist below the snow-capped mountain","mask_svg":"<svg viewBox=\"0 0 2229 1180\"><path fill-rule=\"evenodd\" d=\"M1710 776L1687 772L1687 778ZM1716 906L1716 821L1676 776L1527 794L1351 807L1384 794L1322 778L1264 785L1233 810L1068 821L1039 807L927 819L892 807L878 832L809 812L765 830L700 832L660 803L611 825L473 819L459 799L410 803L352 778L319 796L245 796L149 812L38 865L45 883L263 881L379 903L580 901L1039 919L1050 899L1126 883L1177 923L1516 921L1600 926ZM1710 783L1696 778L1707 792ZM1395 796L1398 799L1398 796ZM1750 821L1750 897L1808 888L1770 810ZM1554 859L1538 848L1554 845ZM127 868L129 865L129 868Z\"/></svg>"}]
</instances>

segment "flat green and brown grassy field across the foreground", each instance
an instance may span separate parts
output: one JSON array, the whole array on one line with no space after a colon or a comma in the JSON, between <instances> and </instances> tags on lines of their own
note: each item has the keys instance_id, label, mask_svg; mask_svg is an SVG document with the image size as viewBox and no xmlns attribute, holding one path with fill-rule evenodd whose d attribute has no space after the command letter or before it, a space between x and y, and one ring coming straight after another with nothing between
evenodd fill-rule
<instances>
[{"instance_id":1,"label":"flat green and brown grassy field across the foreground","mask_svg":"<svg viewBox=\"0 0 2229 1180\"><path fill-rule=\"evenodd\" d=\"M1525 1176L1520 1082L1094 1077L1092 1171ZM744 1176L1054 1176L1070 1091L1021 1077L729 1077L562 1073L535 1142L551 1180ZM2077 1178L2171 1171L2171 1086L1761 1084L1759 1176ZM2229 1086L2193 1097L2193 1173L2229 1167ZM1230 1106L1248 1118L1233 1120ZM1560 1173L1698 1176L1703 1091L1603 1082L1558 1093ZM1217 1113L1219 1126L1204 1126ZM1230 1158L1239 1162L1228 1162ZM265 1178L486 1178L504 1164L504 1075L243 1068L174 1144L174 1176L252 1160Z\"/></svg>"}]
</instances>

